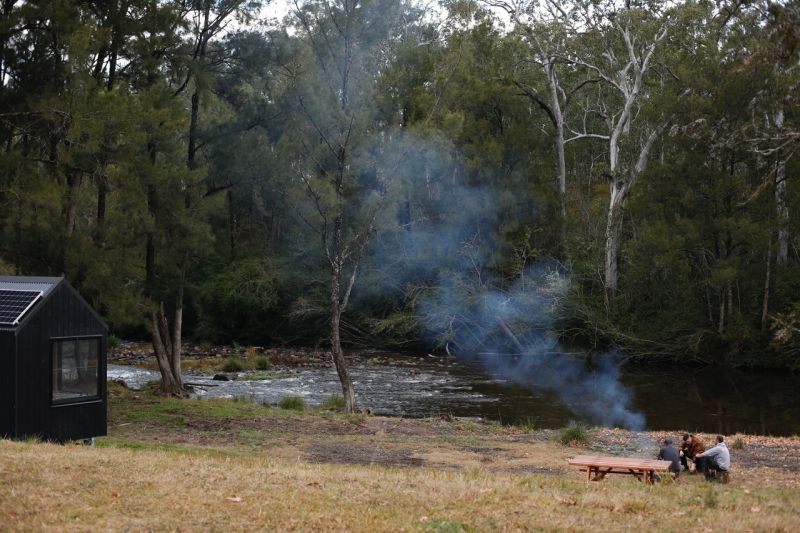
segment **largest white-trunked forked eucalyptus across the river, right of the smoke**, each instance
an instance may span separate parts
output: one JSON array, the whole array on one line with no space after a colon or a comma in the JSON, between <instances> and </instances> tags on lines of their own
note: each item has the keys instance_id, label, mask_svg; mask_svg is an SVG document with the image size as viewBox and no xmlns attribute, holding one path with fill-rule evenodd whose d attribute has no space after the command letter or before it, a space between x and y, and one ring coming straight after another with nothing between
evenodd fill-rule
<instances>
[{"instance_id":1,"label":"largest white-trunked forked eucalyptus across the river, right of the smoke","mask_svg":"<svg viewBox=\"0 0 800 533\"><path fill-rule=\"evenodd\" d=\"M640 5L646 4L646 5ZM579 3L576 12L582 44L570 60L602 80L602 90L583 99L582 128L578 137L605 142L609 200L606 213L604 284L607 300L619 284L619 256L625 201L647 169L653 145L667 127L664 117L654 123L643 111L657 86L652 83L656 55L668 34L668 12L659 3L613 0ZM590 117L599 120L591 121ZM587 124L602 125L596 131Z\"/></svg>"}]
</instances>

